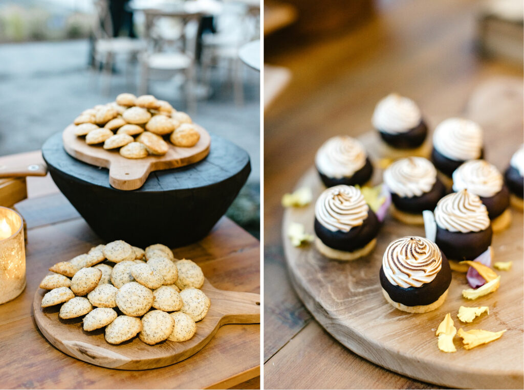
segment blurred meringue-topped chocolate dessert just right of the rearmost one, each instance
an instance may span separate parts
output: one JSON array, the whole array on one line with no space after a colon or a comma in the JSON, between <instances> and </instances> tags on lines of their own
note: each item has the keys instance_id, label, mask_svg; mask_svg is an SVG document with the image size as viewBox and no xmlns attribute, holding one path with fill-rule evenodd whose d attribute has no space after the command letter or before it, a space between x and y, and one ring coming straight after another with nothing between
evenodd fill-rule
<instances>
[{"instance_id":1,"label":"blurred meringue-topped chocolate dessert just right of the rearmost one","mask_svg":"<svg viewBox=\"0 0 524 390\"><path fill-rule=\"evenodd\" d=\"M431 161L448 187L452 185L451 175L464 161L483 157L483 132L474 121L449 118L435 128Z\"/></svg>"}]
</instances>

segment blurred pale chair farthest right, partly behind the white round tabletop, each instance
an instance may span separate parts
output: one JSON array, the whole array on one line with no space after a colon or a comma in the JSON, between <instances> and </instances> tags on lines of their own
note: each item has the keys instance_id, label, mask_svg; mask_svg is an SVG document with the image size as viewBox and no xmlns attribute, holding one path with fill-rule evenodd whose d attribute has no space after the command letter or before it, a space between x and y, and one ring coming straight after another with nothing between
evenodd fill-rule
<instances>
[{"instance_id":1,"label":"blurred pale chair farthest right, partly behind the white round tabletop","mask_svg":"<svg viewBox=\"0 0 524 390\"><path fill-rule=\"evenodd\" d=\"M233 83L235 103L240 105L244 101L244 87L238 49L258 38L257 19L245 4L226 2L215 20L215 34L202 36L202 79L209 85L211 66L225 63Z\"/></svg>"}]
</instances>

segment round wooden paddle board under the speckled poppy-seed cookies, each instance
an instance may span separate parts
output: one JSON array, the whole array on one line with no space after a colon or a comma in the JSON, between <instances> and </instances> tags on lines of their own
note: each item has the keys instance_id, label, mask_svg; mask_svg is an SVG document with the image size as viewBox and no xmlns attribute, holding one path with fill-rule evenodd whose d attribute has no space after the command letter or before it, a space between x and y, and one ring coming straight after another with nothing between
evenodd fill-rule
<instances>
[{"instance_id":1,"label":"round wooden paddle board under the speckled poppy-seed cookies","mask_svg":"<svg viewBox=\"0 0 524 390\"><path fill-rule=\"evenodd\" d=\"M82 318L62 320L61 305L42 308L43 295L38 289L33 300L35 322L43 336L60 351L91 364L119 370L146 370L167 366L189 358L213 338L216 331L228 324L259 324L260 295L224 291L208 280L202 291L211 299L211 307L203 320L196 323L196 333L188 341L163 341L149 346L135 337L113 345L104 339L104 329L86 332Z\"/></svg>"}]
</instances>

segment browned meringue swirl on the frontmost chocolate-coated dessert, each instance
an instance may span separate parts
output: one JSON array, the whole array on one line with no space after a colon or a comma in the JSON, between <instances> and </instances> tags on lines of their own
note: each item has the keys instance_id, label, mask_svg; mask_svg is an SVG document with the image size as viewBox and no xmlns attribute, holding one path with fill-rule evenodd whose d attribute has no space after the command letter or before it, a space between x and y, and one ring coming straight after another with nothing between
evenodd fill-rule
<instances>
[{"instance_id":1,"label":"browned meringue swirl on the frontmost chocolate-coated dessert","mask_svg":"<svg viewBox=\"0 0 524 390\"><path fill-rule=\"evenodd\" d=\"M428 239L408 236L391 242L382 258L389 283L403 288L430 283L442 268L439 247Z\"/></svg>"}]
</instances>

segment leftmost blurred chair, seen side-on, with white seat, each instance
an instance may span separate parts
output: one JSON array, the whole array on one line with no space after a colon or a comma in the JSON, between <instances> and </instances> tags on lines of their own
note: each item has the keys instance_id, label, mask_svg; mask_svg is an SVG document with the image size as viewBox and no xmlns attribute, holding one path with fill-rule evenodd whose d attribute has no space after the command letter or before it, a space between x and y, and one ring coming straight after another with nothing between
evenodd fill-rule
<instances>
[{"instance_id":1,"label":"leftmost blurred chair, seen side-on, with white seat","mask_svg":"<svg viewBox=\"0 0 524 390\"><path fill-rule=\"evenodd\" d=\"M129 37L113 37L114 30L110 13L109 0L95 0L97 17L93 26L94 63L101 63L104 81L103 93L109 95L111 90L111 74L117 56L125 56L127 60L126 74L129 75L129 63L146 49L146 42Z\"/></svg>"}]
</instances>

